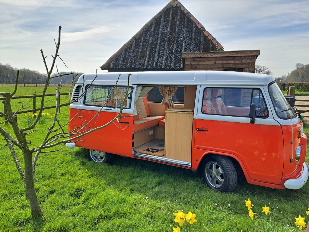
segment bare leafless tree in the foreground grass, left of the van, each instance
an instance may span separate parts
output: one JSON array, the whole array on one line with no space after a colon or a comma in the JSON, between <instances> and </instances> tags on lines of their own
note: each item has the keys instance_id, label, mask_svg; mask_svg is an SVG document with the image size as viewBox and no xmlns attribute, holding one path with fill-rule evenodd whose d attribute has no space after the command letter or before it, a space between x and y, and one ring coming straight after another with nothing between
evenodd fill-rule
<instances>
[{"instance_id":1,"label":"bare leafless tree in the foreground grass, left of the van","mask_svg":"<svg viewBox=\"0 0 309 232\"><path fill-rule=\"evenodd\" d=\"M95 126L90 127L89 126L89 123L91 121L98 120L99 113L104 107L104 105L103 105L101 107L101 109L98 110L98 112L89 121L85 120L85 122L83 122L79 127L74 128L72 131L66 131L65 128L68 125L68 123L70 121L74 120L75 118L79 117L78 114L80 114L80 112L78 112L78 114L76 114L73 118L71 118L64 125L61 125L60 122L57 119L58 108L62 107L62 106L70 105L70 103L78 101L80 98L82 98L85 95L85 93L87 92L87 88L89 88L89 87L86 87L86 89L81 93L81 95L77 99L75 99L74 101L69 100L69 102L59 105L58 104L58 98L59 98L59 89L60 89L60 86L61 86L61 83L62 83L62 80L61 80L60 84L57 84L57 85L55 84L55 86L56 86L56 109L55 109L55 114L53 115L53 122L51 123L48 132L46 133L46 135L44 136L44 139L40 142L40 144L38 146L34 146L34 147L30 148L31 141L28 139L27 136L36 131L36 129L35 129L36 124L40 120L40 118L42 117L42 111L44 109L45 94L46 94L46 90L48 88L49 83L53 84L53 82L52 82L53 78L62 77L64 75L69 75L69 74L59 74L58 69L57 69L58 75L52 76L52 72L53 72L57 58L59 58L63 62L63 60L60 58L60 55L58 53L59 48L60 48L60 34L61 34L61 26L59 26L58 42L56 43L56 41L55 41L56 51L55 51L55 54L52 56L53 60L52 60L52 64L51 64L50 68L48 68L47 63L46 63L47 57L44 56L42 49L40 50L42 58L43 58L43 62L44 62L45 68L46 68L46 82L45 82L44 90L43 90L43 93L42 93L41 106L40 106L40 109L39 109L39 113L38 113L37 117L35 118L34 122L32 123L32 125L23 128L23 127L20 127L20 125L17 121L16 113L18 111L22 110L27 104L22 105L22 107L19 110L17 110L16 112L13 112L13 110L12 110L11 98L17 92L18 80L19 80L19 70L17 71L17 75L16 75L14 91L12 93L0 92L0 95L5 97L5 100L3 101L3 103L4 103L4 107L6 108L6 112L7 112L6 114L3 113L3 112L0 112L0 114L2 116L7 117L7 119L5 121L1 122L0 124L8 121L10 127L12 128L12 130L14 132L14 133L10 134L9 132L7 132L5 130L5 127L0 126L0 133L3 136L4 140L6 141L6 146L8 146L8 148L10 149L10 152L11 152L11 155L12 155L13 160L15 162L16 168L19 172L21 179L23 180L23 184L24 184L24 187L25 187L25 190L26 190L26 196L28 198L28 202L29 202L31 213L32 213L33 217L41 217L43 215L41 208L40 208L40 204L39 204L37 196L36 196L36 191L35 191L35 186L34 186L36 160L37 160L40 153L53 152L53 151L50 151L50 149L48 151L45 151L45 149L52 148L52 147L55 147L55 146L58 146L58 147L54 151L59 151L65 145L66 142L80 141L85 135L90 134L93 131L102 129L102 128L108 126L109 124L111 124L115 121L119 122L122 118L135 116L135 115L122 116L122 111L123 111L123 109L126 105L126 99L128 98L128 96L133 91L133 88L129 88L129 78L130 78L130 74L129 74L128 75L128 85L127 85L127 89L126 89L125 94L123 96L121 96L121 99L118 99L118 100L115 101L115 102L117 102L117 104L119 103L118 105L115 106L115 108L117 109L117 113L116 113L115 118L113 118L110 122L108 122L105 125L100 126L100 127L95 127ZM57 68L57 66L56 66L56 68ZM118 77L118 80L119 80L119 77ZM116 84L115 84L112 92L116 88L118 80L116 81ZM74 78L73 78L72 84L73 84L73 82L74 82ZM108 97L111 97L112 92L110 93L110 95ZM118 111L118 109L119 109L119 111ZM19 149L23 154L24 170L20 165L20 162L18 160L15 149ZM34 155L34 158L32 159L33 153L35 155Z\"/></svg>"}]
</instances>

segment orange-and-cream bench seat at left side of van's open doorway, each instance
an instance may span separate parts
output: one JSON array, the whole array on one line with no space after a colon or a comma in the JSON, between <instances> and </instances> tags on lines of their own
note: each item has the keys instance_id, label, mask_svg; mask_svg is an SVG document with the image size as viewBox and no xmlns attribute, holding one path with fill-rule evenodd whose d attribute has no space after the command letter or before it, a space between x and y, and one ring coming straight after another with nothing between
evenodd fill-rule
<instances>
[{"instance_id":1,"label":"orange-and-cream bench seat at left side of van's open doorway","mask_svg":"<svg viewBox=\"0 0 309 232\"><path fill-rule=\"evenodd\" d=\"M151 116L149 106L145 97L139 97L135 105L139 115L133 118L133 132L156 126L159 124L159 121L165 119L164 115Z\"/></svg>"}]
</instances>

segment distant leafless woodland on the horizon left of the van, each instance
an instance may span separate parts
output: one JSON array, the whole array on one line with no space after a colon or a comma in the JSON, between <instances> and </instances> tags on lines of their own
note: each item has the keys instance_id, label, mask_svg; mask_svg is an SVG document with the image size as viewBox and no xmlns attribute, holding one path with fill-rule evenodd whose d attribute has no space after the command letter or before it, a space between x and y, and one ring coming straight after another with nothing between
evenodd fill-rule
<instances>
[{"instance_id":1,"label":"distant leafless woodland on the horizon left of the van","mask_svg":"<svg viewBox=\"0 0 309 232\"><path fill-rule=\"evenodd\" d=\"M12 67L10 64L0 63L0 83L12 84L16 82L17 68ZM59 72L60 74L68 74L71 72ZM62 76L62 84L71 84L73 76L77 75L75 81L82 73L73 72L71 75ZM1 75L2 74L2 75ZM38 71L30 70L28 68L19 69L19 84L45 84L45 75ZM52 76L57 76L57 73L53 73ZM55 77L52 79L53 83L59 84L61 77Z\"/></svg>"}]
</instances>

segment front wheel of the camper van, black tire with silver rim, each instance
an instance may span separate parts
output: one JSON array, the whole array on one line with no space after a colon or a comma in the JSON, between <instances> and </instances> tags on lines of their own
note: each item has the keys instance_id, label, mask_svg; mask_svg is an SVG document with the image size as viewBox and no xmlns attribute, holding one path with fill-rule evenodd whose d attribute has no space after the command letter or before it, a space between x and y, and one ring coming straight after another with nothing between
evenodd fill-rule
<instances>
[{"instance_id":1,"label":"front wheel of the camper van, black tire with silver rim","mask_svg":"<svg viewBox=\"0 0 309 232\"><path fill-rule=\"evenodd\" d=\"M202 173L205 183L211 189L231 192L237 185L237 171L228 157L207 156L203 162Z\"/></svg>"}]
</instances>

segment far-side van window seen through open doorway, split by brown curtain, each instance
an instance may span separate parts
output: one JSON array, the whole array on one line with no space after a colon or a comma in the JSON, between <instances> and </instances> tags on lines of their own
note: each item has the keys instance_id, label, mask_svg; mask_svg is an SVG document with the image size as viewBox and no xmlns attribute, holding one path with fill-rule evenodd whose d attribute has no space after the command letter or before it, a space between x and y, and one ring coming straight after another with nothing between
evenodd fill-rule
<instances>
[{"instance_id":1,"label":"far-side van window seen through open doorway, split by brown curtain","mask_svg":"<svg viewBox=\"0 0 309 232\"><path fill-rule=\"evenodd\" d=\"M143 87L143 89L144 88L146 89L146 88L151 88L151 87ZM162 101L162 95L158 87L152 87L151 90L146 93L145 97L148 102L161 102ZM175 94L172 97L172 100L174 103L184 104L184 87L177 88Z\"/></svg>"}]
</instances>

